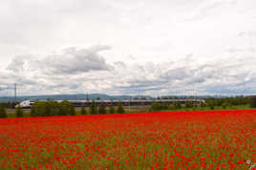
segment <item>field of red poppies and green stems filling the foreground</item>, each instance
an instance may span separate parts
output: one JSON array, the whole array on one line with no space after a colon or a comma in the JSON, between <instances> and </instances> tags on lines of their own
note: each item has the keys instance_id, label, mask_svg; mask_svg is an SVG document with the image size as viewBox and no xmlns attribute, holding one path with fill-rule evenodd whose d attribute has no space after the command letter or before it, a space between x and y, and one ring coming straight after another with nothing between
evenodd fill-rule
<instances>
[{"instance_id":1,"label":"field of red poppies and green stems filling the foreground","mask_svg":"<svg viewBox=\"0 0 256 170\"><path fill-rule=\"evenodd\" d=\"M202 111L0 119L0 169L247 170L256 162L255 114Z\"/></svg>"}]
</instances>

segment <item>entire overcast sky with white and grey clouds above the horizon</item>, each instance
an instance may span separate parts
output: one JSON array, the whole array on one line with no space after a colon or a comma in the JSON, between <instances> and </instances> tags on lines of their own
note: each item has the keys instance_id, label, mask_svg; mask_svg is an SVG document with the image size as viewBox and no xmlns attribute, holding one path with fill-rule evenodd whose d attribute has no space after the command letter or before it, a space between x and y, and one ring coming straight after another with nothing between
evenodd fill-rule
<instances>
[{"instance_id":1,"label":"entire overcast sky with white and grey clouds above the horizon","mask_svg":"<svg viewBox=\"0 0 256 170\"><path fill-rule=\"evenodd\" d=\"M256 94L255 0L1 0L0 96Z\"/></svg>"}]
</instances>

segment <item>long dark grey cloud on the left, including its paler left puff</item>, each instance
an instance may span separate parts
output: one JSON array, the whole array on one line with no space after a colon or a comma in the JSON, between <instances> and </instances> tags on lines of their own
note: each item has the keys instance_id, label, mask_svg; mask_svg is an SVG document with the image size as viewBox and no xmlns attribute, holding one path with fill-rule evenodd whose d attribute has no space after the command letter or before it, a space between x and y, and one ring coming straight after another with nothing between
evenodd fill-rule
<instances>
[{"instance_id":1,"label":"long dark grey cloud on the left, including its paler left puff","mask_svg":"<svg viewBox=\"0 0 256 170\"><path fill-rule=\"evenodd\" d=\"M96 45L87 49L66 48L59 53L40 58L32 54L18 55L11 60L6 70L27 74L83 74L91 71L109 71L113 68L99 53L110 49L109 46Z\"/></svg>"}]
</instances>

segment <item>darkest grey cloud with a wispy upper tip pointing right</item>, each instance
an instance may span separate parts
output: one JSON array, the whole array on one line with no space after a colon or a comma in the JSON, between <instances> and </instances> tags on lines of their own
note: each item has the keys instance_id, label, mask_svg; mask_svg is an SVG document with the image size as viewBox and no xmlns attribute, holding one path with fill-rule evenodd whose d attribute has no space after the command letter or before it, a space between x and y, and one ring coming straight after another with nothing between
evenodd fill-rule
<instances>
[{"instance_id":1,"label":"darkest grey cloud with a wispy upper tip pointing right","mask_svg":"<svg viewBox=\"0 0 256 170\"><path fill-rule=\"evenodd\" d=\"M38 61L38 66L47 74L82 74L91 71L109 71L111 66L99 54L108 46L89 49L68 48L61 53L48 55Z\"/></svg>"}]
</instances>

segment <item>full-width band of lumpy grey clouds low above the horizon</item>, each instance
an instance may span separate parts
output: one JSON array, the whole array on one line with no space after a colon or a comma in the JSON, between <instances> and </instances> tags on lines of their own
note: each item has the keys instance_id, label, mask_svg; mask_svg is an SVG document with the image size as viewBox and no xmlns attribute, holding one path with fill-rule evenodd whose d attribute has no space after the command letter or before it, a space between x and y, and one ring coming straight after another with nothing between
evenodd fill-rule
<instances>
[{"instance_id":1,"label":"full-width band of lumpy grey clouds low above the horizon","mask_svg":"<svg viewBox=\"0 0 256 170\"><path fill-rule=\"evenodd\" d=\"M124 95L254 92L256 74L247 69L255 63L252 56L209 60L201 64L192 55L161 63L118 61L107 64L99 53L108 49L104 46L80 50L69 48L41 59L13 59L9 69L0 74L0 87L5 89L1 94L4 91L11 94L12 90L7 87L12 87L14 82L22 89L20 93L33 95L53 92ZM92 63L96 67L88 67ZM23 71L10 69L11 65L23 65Z\"/></svg>"}]
</instances>

